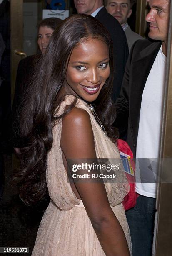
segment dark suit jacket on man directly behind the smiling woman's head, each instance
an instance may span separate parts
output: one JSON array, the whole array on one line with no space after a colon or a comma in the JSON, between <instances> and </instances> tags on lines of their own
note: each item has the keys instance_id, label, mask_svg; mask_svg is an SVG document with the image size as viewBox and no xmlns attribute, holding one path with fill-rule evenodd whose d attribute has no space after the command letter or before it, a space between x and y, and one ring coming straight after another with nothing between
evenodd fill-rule
<instances>
[{"instance_id":1,"label":"dark suit jacket on man directly behind the smiling woman's head","mask_svg":"<svg viewBox=\"0 0 172 256\"><path fill-rule=\"evenodd\" d=\"M114 83L112 98L115 101L120 94L125 64L128 58L128 44L120 23L103 7L95 16L110 33L114 51Z\"/></svg>"}]
</instances>

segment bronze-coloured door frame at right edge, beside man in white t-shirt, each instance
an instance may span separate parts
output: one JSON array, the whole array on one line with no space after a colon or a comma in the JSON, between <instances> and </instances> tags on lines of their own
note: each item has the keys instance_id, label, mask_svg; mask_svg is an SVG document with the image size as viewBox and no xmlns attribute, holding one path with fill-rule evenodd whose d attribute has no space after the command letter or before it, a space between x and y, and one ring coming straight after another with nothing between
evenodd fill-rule
<instances>
[{"instance_id":1,"label":"bronze-coloured door frame at right edge, beside man in white t-shirt","mask_svg":"<svg viewBox=\"0 0 172 256\"><path fill-rule=\"evenodd\" d=\"M163 109L162 136L160 146L159 174L162 180L169 177L172 166L166 166L167 159L172 164L172 4L167 49L167 72L165 78L165 95ZM155 255L172 255L172 184L160 183L157 194L157 218L155 219Z\"/></svg>"}]
</instances>

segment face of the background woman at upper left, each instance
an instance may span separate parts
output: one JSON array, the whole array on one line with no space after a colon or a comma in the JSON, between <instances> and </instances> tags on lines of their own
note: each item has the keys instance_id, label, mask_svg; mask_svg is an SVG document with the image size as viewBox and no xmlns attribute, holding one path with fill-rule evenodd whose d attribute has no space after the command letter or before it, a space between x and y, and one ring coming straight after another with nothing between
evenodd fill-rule
<instances>
[{"instance_id":1,"label":"face of the background woman at upper left","mask_svg":"<svg viewBox=\"0 0 172 256\"><path fill-rule=\"evenodd\" d=\"M49 41L50 41L50 37L52 36L53 32L54 32L54 30L47 26L39 28L38 36L37 36L38 37L37 44L38 44L42 54L45 54L45 51L46 51Z\"/></svg>"}]
</instances>

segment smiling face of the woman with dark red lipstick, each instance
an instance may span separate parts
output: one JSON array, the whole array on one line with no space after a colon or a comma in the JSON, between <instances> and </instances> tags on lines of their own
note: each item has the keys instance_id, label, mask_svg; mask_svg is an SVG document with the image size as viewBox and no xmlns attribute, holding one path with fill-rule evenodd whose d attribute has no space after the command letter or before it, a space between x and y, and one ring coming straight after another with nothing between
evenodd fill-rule
<instances>
[{"instance_id":1,"label":"smiling face of the woman with dark red lipstick","mask_svg":"<svg viewBox=\"0 0 172 256\"><path fill-rule=\"evenodd\" d=\"M65 92L72 92L88 102L97 99L110 75L109 49L98 40L89 38L72 51L66 72Z\"/></svg>"}]
</instances>

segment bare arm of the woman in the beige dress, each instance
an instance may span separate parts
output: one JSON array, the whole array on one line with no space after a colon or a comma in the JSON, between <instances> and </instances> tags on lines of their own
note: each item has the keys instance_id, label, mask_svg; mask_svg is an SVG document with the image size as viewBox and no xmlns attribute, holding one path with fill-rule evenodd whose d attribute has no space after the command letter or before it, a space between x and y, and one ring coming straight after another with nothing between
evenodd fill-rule
<instances>
[{"instance_id":1,"label":"bare arm of the woman in the beige dress","mask_svg":"<svg viewBox=\"0 0 172 256\"><path fill-rule=\"evenodd\" d=\"M62 120L61 148L66 159L96 159L89 114L73 108ZM104 183L76 182L87 215L107 256L130 255L122 227L108 202Z\"/></svg>"}]
</instances>

